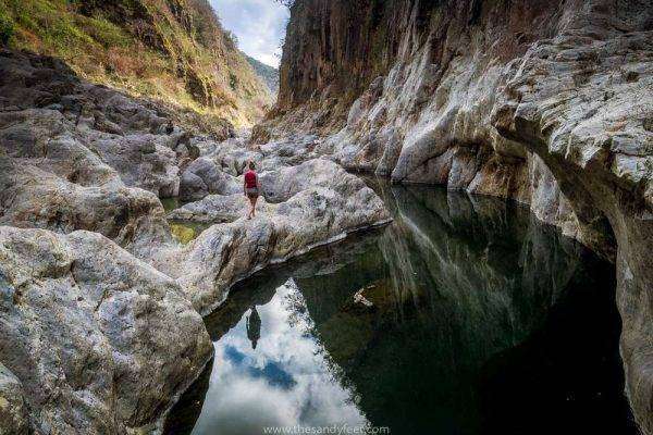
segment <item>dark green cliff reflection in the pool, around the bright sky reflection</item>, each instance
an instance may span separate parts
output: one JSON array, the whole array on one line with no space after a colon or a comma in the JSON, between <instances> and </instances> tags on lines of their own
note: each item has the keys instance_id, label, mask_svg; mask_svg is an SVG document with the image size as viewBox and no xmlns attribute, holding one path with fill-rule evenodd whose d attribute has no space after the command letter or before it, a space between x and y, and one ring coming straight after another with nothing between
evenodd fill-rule
<instances>
[{"instance_id":1,"label":"dark green cliff reflection in the pool, around the bright sky reflection","mask_svg":"<svg viewBox=\"0 0 653 435\"><path fill-rule=\"evenodd\" d=\"M393 434L634 433L614 268L516 204L377 190L393 210L390 226L236 285L206 319L213 340L293 278L306 301L296 309L308 310L333 375L373 425ZM172 421L184 412L193 414L173 410Z\"/></svg>"}]
</instances>

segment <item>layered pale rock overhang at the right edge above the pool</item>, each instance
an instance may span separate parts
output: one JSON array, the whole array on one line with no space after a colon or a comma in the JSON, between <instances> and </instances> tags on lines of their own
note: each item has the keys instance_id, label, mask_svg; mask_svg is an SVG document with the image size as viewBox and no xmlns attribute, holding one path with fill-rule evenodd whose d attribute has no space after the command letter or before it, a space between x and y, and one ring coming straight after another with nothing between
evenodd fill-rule
<instances>
[{"instance_id":1,"label":"layered pale rock overhang at the right edge above the pool","mask_svg":"<svg viewBox=\"0 0 653 435\"><path fill-rule=\"evenodd\" d=\"M599 10L594 13L590 20L602 16ZM512 65L493 122L546 165L568 198L562 204L568 209L564 214L572 211L579 238L616 257L626 390L640 427L649 434L653 433L653 132L643 128L642 120L653 117L653 34L638 32L628 22L623 24L630 33L607 27L601 39L588 44L584 22L577 18L572 15L564 33L532 46L521 64ZM628 71L641 74L634 79ZM533 83L537 86L531 87ZM604 98L606 92L612 97ZM546 195L538 199L560 210Z\"/></svg>"}]
</instances>

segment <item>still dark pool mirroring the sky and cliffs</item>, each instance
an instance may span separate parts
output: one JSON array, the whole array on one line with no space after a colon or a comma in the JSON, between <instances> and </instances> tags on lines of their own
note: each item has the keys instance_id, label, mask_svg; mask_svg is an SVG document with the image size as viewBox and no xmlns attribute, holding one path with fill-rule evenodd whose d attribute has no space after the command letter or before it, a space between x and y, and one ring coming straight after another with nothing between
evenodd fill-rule
<instances>
[{"instance_id":1,"label":"still dark pool mirroring the sky and cliffs","mask_svg":"<svg viewBox=\"0 0 653 435\"><path fill-rule=\"evenodd\" d=\"M377 189L392 225L257 274L206 319L214 361L165 433L636 433L613 266L514 204Z\"/></svg>"}]
</instances>

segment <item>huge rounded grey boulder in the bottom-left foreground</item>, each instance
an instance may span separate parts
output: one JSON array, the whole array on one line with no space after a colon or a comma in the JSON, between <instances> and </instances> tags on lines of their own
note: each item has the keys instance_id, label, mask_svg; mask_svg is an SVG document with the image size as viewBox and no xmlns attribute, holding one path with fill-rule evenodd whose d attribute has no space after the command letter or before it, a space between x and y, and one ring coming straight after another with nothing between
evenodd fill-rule
<instances>
[{"instance_id":1,"label":"huge rounded grey boulder in the bottom-left foreground","mask_svg":"<svg viewBox=\"0 0 653 435\"><path fill-rule=\"evenodd\" d=\"M0 227L0 356L35 432L150 426L211 350L180 286L111 240Z\"/></svg>"}]
</instances>

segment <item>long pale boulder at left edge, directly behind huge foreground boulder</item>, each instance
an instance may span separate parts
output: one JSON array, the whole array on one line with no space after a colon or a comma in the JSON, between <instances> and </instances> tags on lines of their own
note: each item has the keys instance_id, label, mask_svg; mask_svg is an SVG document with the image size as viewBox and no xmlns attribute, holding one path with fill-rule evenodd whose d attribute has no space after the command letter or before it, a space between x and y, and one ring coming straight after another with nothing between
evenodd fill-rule
<instances>
[{"instance_id":1,"label":"long pale boulder at left edge, directly behind huge foreground boulder","mask_svg":"<svg viewBox=\"0 0 653 435\"><path fill-rule=\"evenodd\" d=\"M149 191L121 184L81 186L0 157L0 225L100 233L133 252L170 240L163 207Z\"/></svg>"}]
</instances>

